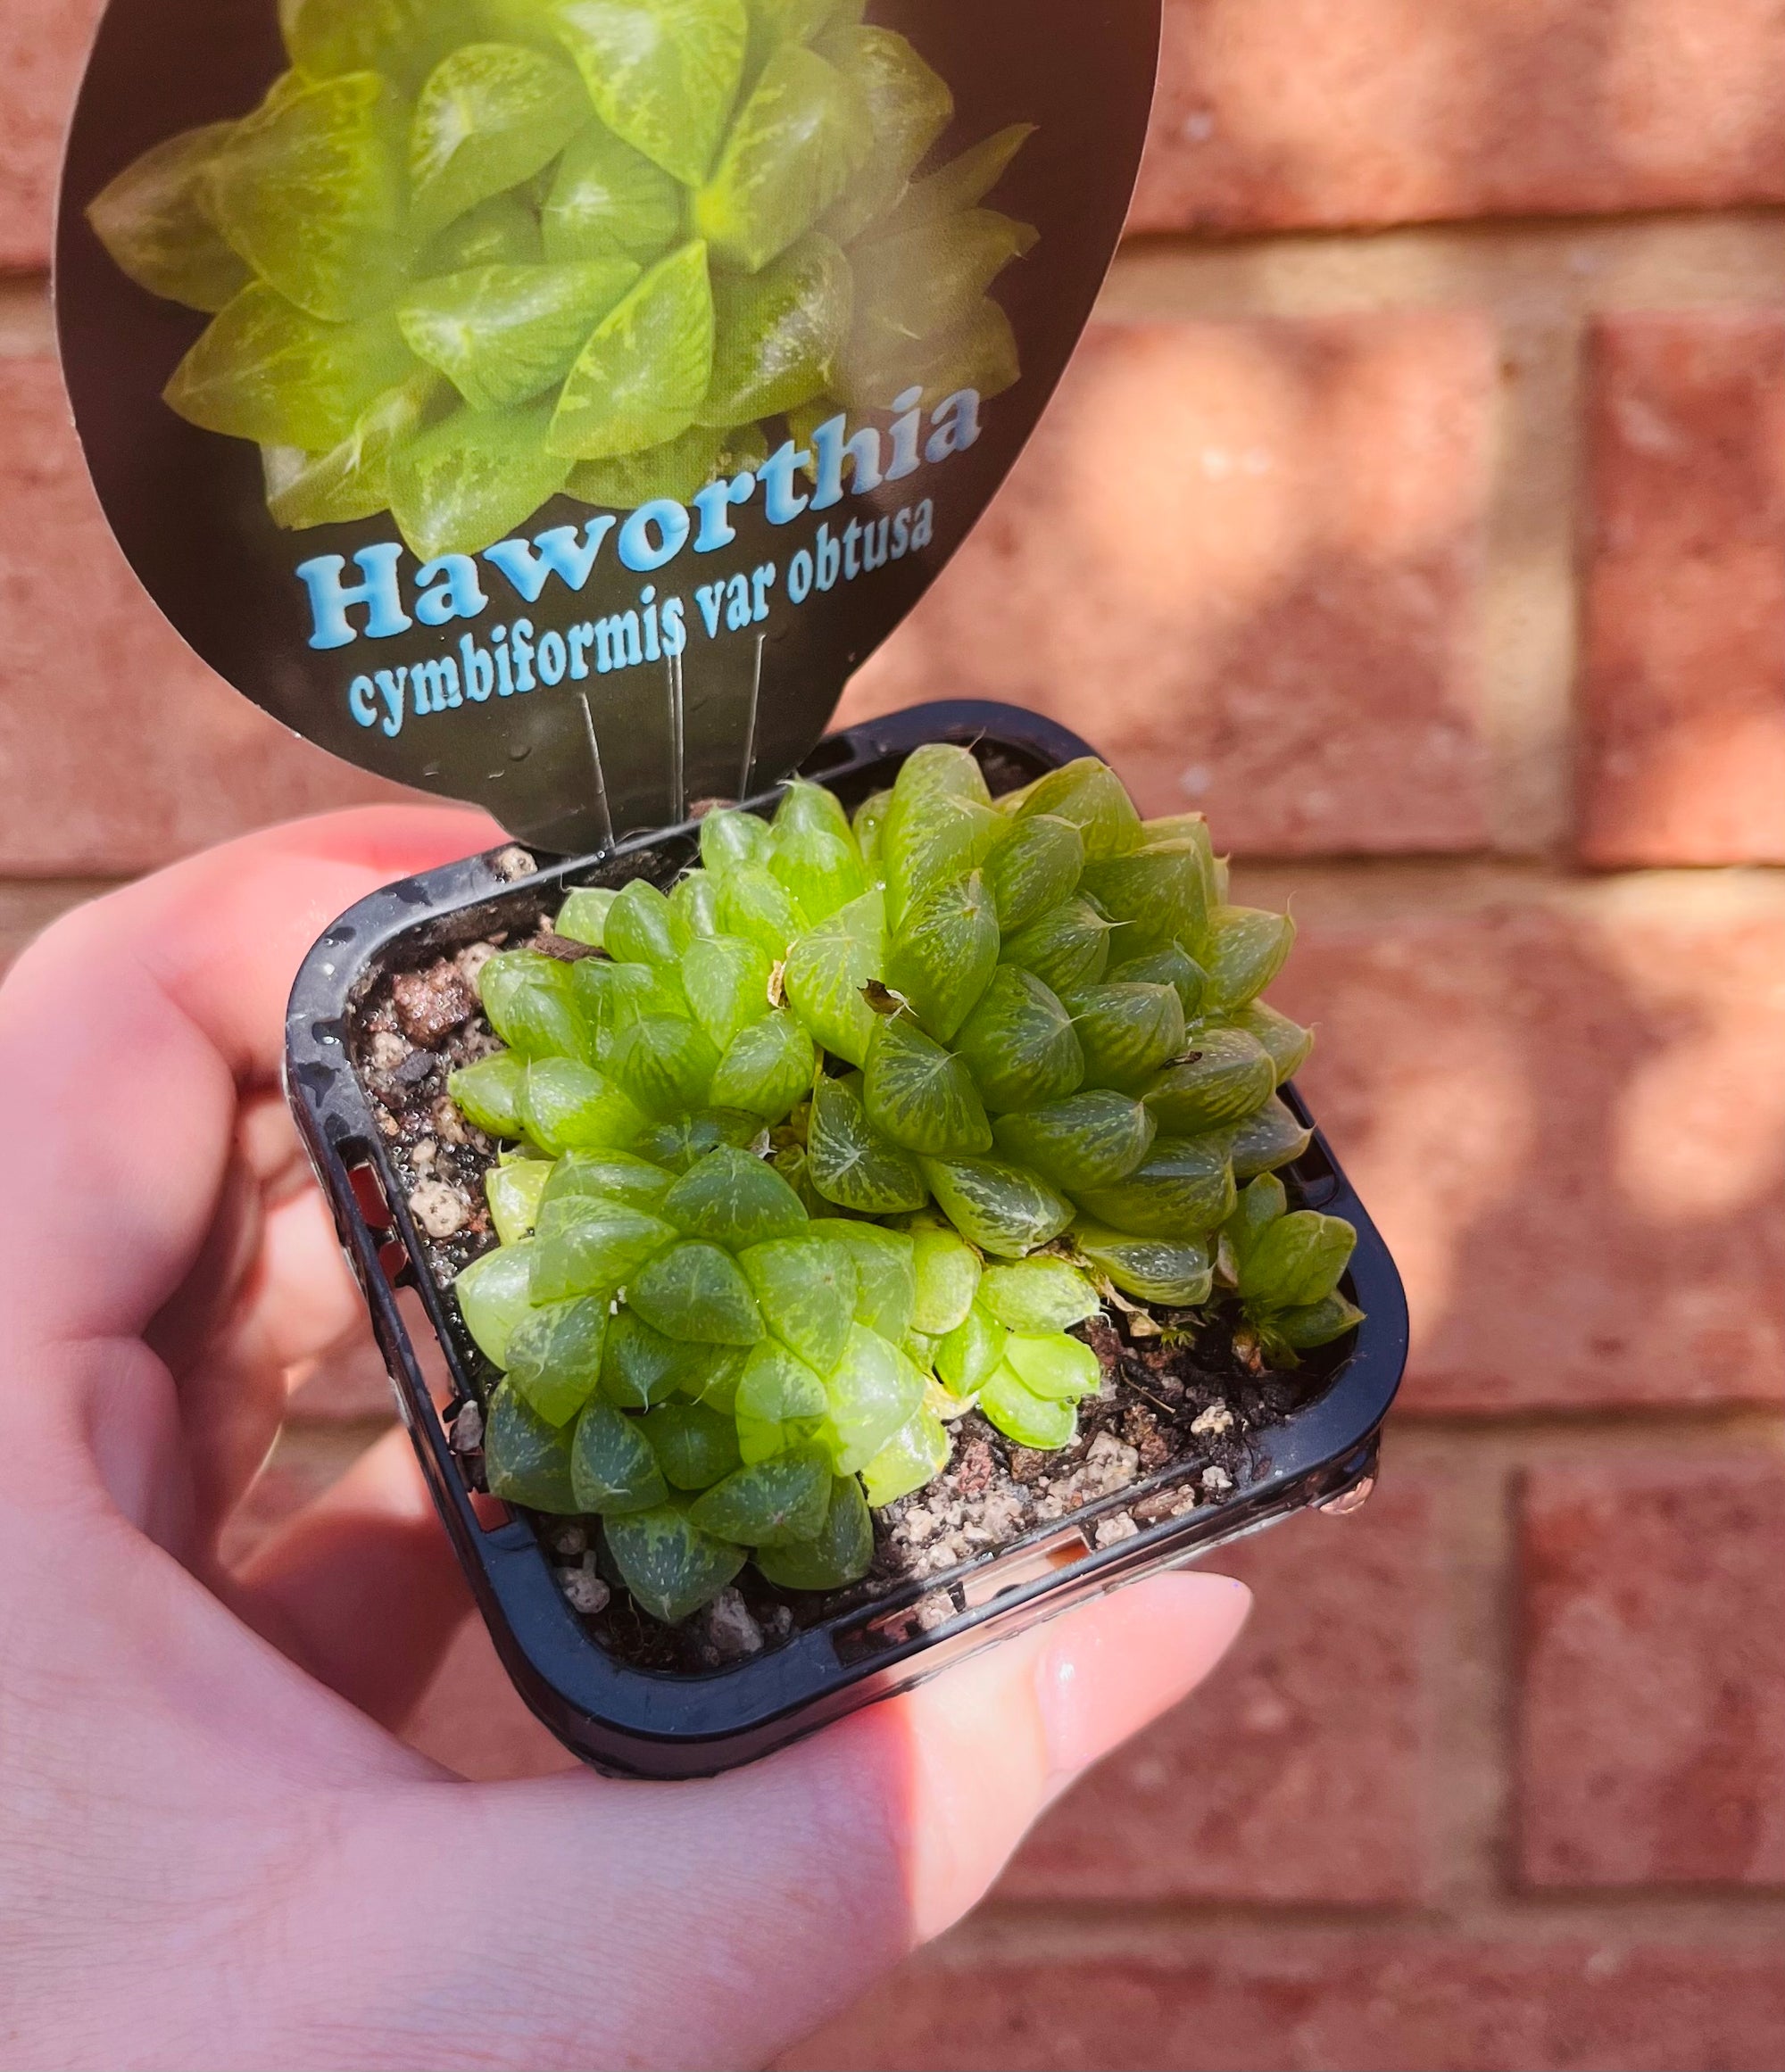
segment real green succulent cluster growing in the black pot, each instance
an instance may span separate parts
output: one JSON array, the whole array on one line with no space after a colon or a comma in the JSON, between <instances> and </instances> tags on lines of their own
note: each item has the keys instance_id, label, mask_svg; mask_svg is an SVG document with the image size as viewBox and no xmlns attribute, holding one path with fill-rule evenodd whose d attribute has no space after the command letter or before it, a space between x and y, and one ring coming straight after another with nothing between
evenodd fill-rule
<instances>
[{"instance_id":1,"label":"real green succulent cluster growing in the black pot","mask_svg":"<svg viewBox=\"0 0 1785 2072\"><path fill-rule=\"evenodd\" d=\"M1070 1444L1105 1301L1219 1291L1273 1363L1348 1332L1354 1231L1275 1177L1310 1036L1256 992L1294 926L1223 895L1202 823L1105 765L993 800L931 746L854 823L794 781L711 812L668 895L570 893L595 955L493 955L506 1048L452 1080L512 1146L456 1283L491 1492L599 1517L676 1620L746 1560L856 1581L968 1409Z\"/></svg>"}]
</instances>

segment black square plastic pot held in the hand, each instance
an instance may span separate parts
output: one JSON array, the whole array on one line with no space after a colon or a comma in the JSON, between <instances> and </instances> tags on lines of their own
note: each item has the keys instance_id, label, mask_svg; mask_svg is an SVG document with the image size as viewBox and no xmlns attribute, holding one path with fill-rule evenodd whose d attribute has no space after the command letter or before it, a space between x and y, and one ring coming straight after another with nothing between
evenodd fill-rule
<instances>
[{"instance_id":1,"label":"black square plastic pot held in the hand","mask_svg":"<svg viewBox=\"0 0 1785 2072\"><path fill-rule=\"evenodd\" d=\"M912 748L935 740L972 746L993 792L1093 752L1066 727L1014 707L925 704L827 738L809 756L804 775L854 804L889 783ZM757 804L771 806L773 794ZM597 858L539 862L500 850L406 879L363 899L323 934L299 974L286 1019L286 1090L348 1264L365 1289L398 1409L495 1649L520 1695L566 1747L618 1776L690 1778L730 1769L1099 1591L1190 1562L1296 1510L1350 1508L1366 1492L1377 1432L1406 1363L1408 1312L1387 1247L1316 1131L1306 1156L1281 1177L1298 1206L1356 1225L1345 1293L1366 1322L1329 1355L1319 1394L1281 1426L1254 1434L1248 1481L1097 1548L1101 1517L1190 1473L1167 1469L950 1575L804 1627L784 1645L711 1674L670 1674L616 1660L564 1600L533 1521L479 1496L452 1450L452 1417L479 1394L479 1355L458 1324L450 1289L427 1266L427 1241L410 1218L371 1096L357 1075L355 1017L386 974L427 966L491 930L531 930L576 885L620 885L634 876L668 885L695 854L695 823L688 823L630 837ZM1285 1098L1302 1121L1312 1121L1294 1090ZM427 1365L437 1374L444 1359L446 1382L433 1390L425 1378L427 1349L417 1349L398 1307L404 1287L417 1291L437 1339L440 1357L429 1351ZM947 1593L954 1616L923 1631L914 1606L925 1600L933 1616L939 1593Z\"/></svg>"}]
</instances>

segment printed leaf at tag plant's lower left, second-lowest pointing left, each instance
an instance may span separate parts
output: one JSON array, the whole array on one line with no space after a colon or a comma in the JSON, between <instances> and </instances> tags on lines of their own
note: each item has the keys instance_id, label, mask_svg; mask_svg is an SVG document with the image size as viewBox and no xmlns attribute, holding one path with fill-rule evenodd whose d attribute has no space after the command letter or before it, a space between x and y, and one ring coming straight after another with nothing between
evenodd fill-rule
<instances>
[{"instance_id":1,"label":"printed leaf at tag plant's lower left, second-lowest pointing left","mask_svg":"<svg viewBox=\"0 0 1785 2072\"><path fill-rule=\"evenodd\" d=\"M257 280L211 317L162 394L203 431L321 454L415 371L392 315L321 323Z\"/></svg>"}]
</instances>

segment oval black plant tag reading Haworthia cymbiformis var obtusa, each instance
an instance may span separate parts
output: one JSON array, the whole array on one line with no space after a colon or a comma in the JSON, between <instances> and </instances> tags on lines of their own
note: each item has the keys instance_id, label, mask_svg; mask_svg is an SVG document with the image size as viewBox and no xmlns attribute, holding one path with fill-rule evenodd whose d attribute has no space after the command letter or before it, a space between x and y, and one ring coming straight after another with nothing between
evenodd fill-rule
<instances>
[{"instance_id":1,"label":"oval black plant tag reading Haworthia cymbiformis var obtusa","mask_svg":"<svg viewBox=\"0 0 1785 2072\"><path fill-rule=\"evenodd\" d=\"M106 516L294 731L597 850L786 775L1008 474L1161 0L112 0Z\"/></svg>"}]
</instances>

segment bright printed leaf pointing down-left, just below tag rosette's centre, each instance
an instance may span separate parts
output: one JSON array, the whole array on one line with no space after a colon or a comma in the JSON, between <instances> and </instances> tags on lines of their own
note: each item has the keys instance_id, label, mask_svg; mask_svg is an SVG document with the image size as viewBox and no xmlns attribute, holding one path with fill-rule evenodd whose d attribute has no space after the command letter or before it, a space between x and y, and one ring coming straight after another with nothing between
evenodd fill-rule
<instances>
[{"instance_id":1,"label":"bright printed leaf pointing down-left, just below tag rosette's centre","mask_svg":"<svg viewBox=\"0 0 1785 2072\"><path fill-rule=\"evenodd\" d=\"M597 4L597 0L589 0ZM547 443L566 460L612 460L695 423L713 379L707 247L682 244L601 319L558 398Z\"/></svg>"}]
</instances>

